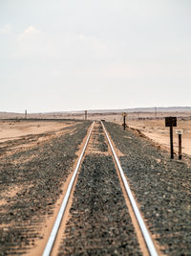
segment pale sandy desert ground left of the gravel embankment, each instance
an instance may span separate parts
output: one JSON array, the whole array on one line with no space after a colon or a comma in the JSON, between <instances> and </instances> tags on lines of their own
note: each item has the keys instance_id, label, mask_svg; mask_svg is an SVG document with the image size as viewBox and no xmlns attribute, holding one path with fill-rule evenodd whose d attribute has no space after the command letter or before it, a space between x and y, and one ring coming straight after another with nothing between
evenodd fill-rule
<instances>
[{"instance_id":1,"label":"pale sandy desert ground left of the gravel embankment","mask_svg":"<svg viewBox=\"0 0 191 256\"><path fill-rule=\"evenodd\" d=\"M74 126L74 121L1 121L0 122L0 157L15 151L25 151L39 143L63 133Z\"/></svg>"}]
</instances>

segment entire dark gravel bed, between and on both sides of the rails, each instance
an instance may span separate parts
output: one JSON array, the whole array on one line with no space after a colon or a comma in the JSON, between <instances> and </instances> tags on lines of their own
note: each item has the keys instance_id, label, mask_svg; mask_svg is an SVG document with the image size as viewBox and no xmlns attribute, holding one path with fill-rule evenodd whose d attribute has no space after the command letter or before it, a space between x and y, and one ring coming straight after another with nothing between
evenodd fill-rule
<instances>
[{"instance_id":1,"label":"entire dark gravel bed, between and on both sides of the rails","mask_svg":"<svg viewBox=\"0 0 191 256\"><path fill-rule=\"evenodd\" d=\"M160 252L189 255L191 158L156 147L141 133L104 122ZM0 255L26 254L43 239L62 185L74 169L79 145L90 122L62 128L56 136L33 134L36 143L13 140L1 152ZM33 137L32 137L33 136ZM13 145L13 148L12 148ZM13 150L12 150L13 149ZM74 187L74 199L59 255L142 255L100 123L96 123Z\"/></svg>"}]
</instances>

